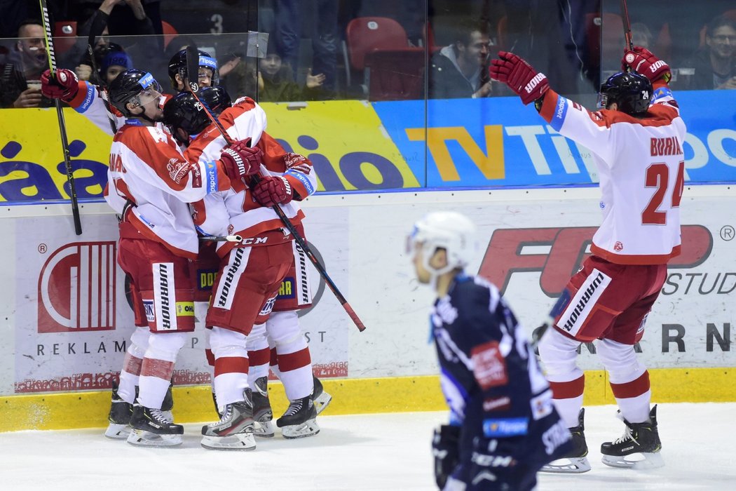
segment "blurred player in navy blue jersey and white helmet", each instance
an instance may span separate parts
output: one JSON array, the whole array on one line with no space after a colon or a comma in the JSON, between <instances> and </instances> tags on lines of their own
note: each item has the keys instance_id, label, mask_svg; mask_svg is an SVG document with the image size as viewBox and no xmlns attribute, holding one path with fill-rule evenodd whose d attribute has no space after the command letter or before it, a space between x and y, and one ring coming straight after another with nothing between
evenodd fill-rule
<instances>
[{"instance_id":1,"label":"blurred player in navy blue jersey and white helmet","mask_svg":"<svg viewBox=\"0 0 736 491\"><path fill-rule=\"evenodd\" d=\"M498 289L465 274L475 226L429 213L407 249L417 279L435 290L430 323L450 422L434 433L441 490L534 490L537 471L570 451L570 432L526 333Z\"/></svg>"}]
</instances>

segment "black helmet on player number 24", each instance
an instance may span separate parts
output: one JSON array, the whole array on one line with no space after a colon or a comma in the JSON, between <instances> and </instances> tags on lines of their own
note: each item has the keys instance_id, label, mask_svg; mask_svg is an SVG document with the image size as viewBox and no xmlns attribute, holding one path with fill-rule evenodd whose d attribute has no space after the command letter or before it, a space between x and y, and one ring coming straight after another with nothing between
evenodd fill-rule
<instances>
[{"instance_id":1,"label":"black helmet on player number 24","mask_svg":"<svg viewBox=\"0 0 736 491\"><path fill-rule=\"evenodd\" d=\"M647 77L635 71L620 71L601 84L598 107L607 109L615 102L620 111L640 115L646 113L649 108L653 93L654 89Z\"/></svg>"}]
</instances>

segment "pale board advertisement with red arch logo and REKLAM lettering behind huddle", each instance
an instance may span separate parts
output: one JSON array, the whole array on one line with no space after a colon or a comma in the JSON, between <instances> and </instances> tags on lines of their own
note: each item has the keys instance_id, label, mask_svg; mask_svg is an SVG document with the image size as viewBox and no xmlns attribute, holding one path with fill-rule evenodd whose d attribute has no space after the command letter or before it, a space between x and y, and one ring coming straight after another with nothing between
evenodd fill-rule
<instances>
[{"instance_id":1,"label":"pale board advertisement with red arch logo and REKLAM lettering behind huddle","mask_svg":"<svg viewBox=\"0 0 736 491\"><path fill-rule=\"evenodd\" d=\"M42 207L38 208L41 211ZM327 259L330 277L347 293L346 219L311 213L319 235L311 238ZM344 215L344 213L343 213ZM7 220L6 220L7 222ZM133 329L123 272L116 264L117 223L111 213L84 216L84 234L74 236L67 220L36 216L15 220L20 274L13 285L14 377L10 393L107 389L119 372ZM309 230L309 229L308 229ZM342 251L342 252L341 252ZM310 268L311 264L309 265ZM350 322L312 271L316 305L302 312L302 330L321 377L347 376ZM9 290L10 292L10 290ZM174 371L175 384L208 384L205 366L206 304L197 304L197 329L189 335ZM14 354L13 354L14 353ZM6 392L5 387L0 393Z\"/></svg>"}]
</instances>

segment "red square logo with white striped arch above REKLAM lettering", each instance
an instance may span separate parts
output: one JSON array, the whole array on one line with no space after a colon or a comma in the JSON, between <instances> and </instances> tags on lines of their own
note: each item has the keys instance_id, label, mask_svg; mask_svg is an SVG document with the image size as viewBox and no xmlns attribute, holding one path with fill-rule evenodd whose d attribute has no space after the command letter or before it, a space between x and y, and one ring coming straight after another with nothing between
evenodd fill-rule
<instances>
[{"instance_id":1,"label":"red square logo with white striped arch above REKLAM lettering","mask_svg":"<svg viewBox=\"0 0 736 491\"><path fill-rule=\"evenodd\" d=\"M116 244L76 242L55 250L38 277L38 332L113 331Z\"/></svg>"}]
</instances>

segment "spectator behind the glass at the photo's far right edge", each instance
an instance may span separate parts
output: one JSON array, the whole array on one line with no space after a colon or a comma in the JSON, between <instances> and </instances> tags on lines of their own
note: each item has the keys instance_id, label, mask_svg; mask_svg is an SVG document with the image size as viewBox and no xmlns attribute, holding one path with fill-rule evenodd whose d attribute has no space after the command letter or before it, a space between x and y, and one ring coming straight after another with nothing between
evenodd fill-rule
<instances>
[{"instance_id":1,"label":"spectator behind the glass at the photo's far right edge","mask_svg":"<svg viewBox=\"0 0 736 491\"><path fill-rule=\"evenodd\" d=\"M708 23L705 46L698 49L690 66L695 68L692 89L736 88L736 22L733 19L719 15Z\"/></svg>"}]
</instances>

